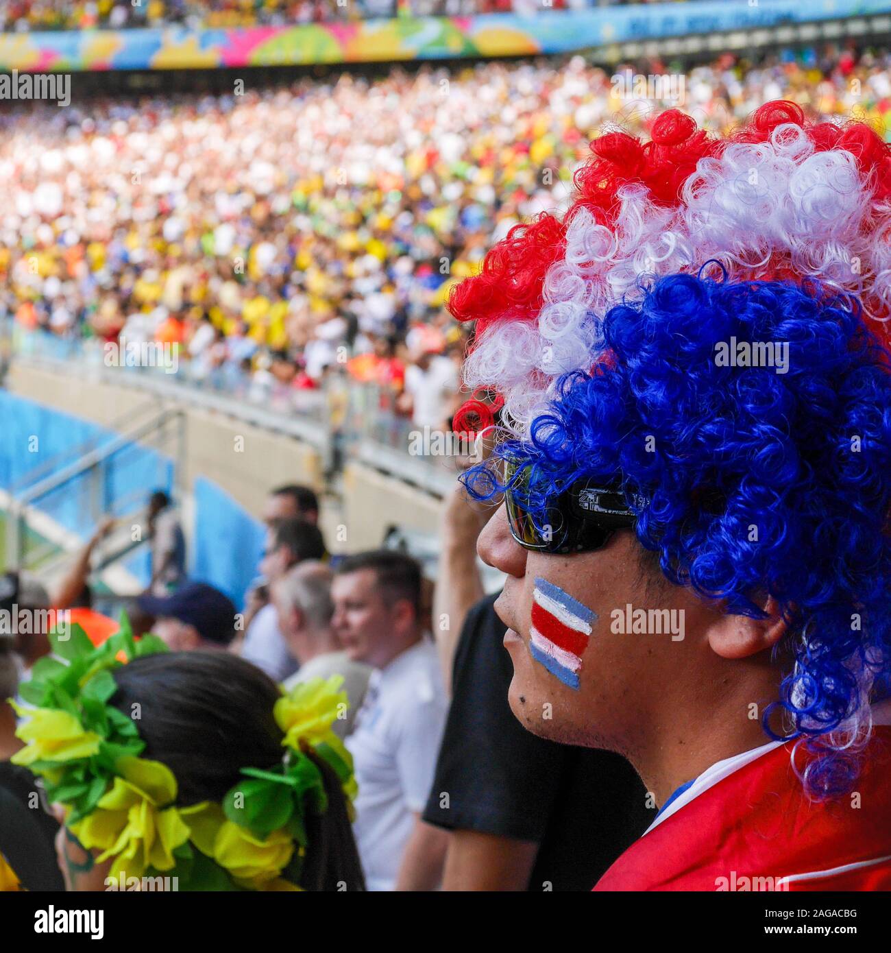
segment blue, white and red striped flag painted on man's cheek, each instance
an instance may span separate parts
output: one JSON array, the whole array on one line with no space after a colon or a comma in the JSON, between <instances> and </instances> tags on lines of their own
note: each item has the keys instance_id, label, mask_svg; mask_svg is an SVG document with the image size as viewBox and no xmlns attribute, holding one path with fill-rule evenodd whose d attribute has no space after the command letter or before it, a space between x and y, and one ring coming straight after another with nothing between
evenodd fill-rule
<instances>
[{"instance_id":1,"label":"blue, white and red striped flag painted on man's cheek","mask_svg":"<svg viewBox=\"0 0 891 953\"><path fill-rule=\"evenodd\" d=\"M529 652L564 685L578 690L581 655L597 613L547 579L536 579L532 598Z\"/></svg>"}]
</instances>

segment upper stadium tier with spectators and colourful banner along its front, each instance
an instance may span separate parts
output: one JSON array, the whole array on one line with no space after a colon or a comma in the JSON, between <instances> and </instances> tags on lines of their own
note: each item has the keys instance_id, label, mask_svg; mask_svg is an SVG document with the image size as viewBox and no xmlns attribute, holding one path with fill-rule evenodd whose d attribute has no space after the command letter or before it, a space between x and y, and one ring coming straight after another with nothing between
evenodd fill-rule
<instances>
[{"instance_id":1,"label":"upper stadium tier with spectators and colourful banner along its front","mask_svg":"<svg viewBox=\"0 0 891 953\"><path fill-rule=\"evenodd\" d=\"M12 15L27 4L7 5L7 30L0 32L0 71L213 70L587 50L604 51L610 61L641 55L671 59L677 53L752 51L797 42L836 42L848 36L878 41L891 35L891 0L605 5L599 0L342 2L346 6L337 0L267 0L268 7L233 4L234 11L256 17L257 23L221 26L216 18L224 17L225 10L219 5L200 5L205 12L183 13L183 19L178 11L192 10L185 3L165 6L142 0L135 6L111 6L107 0L107 8L88 5L99 29L57 30L27 30L27 18ZM34 3L34 9L49 14L86 8L44 0L39 6ZM175 13L171 20L166 19L167 10ZM269 22L264 10L272 17ZM108 23L100 13L109 17ZM115 16L126 18L119 29L111 26ZM139 22L147 25L145 29L124 29ZM19 98L40 96L25 91Z\"/></svg>"}]
</instances>

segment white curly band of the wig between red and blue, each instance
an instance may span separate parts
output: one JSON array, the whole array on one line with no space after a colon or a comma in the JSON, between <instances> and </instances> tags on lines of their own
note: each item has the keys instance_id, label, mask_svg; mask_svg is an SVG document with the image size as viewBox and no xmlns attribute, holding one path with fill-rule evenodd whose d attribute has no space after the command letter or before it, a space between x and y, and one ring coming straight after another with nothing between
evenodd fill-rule
<instances>
[{"instance_id":1,"label":"white curly band of the wig between red and blue","mask_svg":"<svg viewBox=\"0 0 891 953\"><path fill-rule=\"evenodd\" d=\"M699 160L677 208L656 205L643 185L617 191L615 227L582 206L566 249L545 275L535 322L510 315L488 328L465 368L466 385L496 388L503 425L522 437L547 407L560 375L588 371L603 349L602 319L638 300L664 274L707 261L729 280L813 277L857 295L867 316L891 313L891 206L876 206L851 152L817 152L794 123L767 142L730 143Z\"/></svg>"}]
</instances>

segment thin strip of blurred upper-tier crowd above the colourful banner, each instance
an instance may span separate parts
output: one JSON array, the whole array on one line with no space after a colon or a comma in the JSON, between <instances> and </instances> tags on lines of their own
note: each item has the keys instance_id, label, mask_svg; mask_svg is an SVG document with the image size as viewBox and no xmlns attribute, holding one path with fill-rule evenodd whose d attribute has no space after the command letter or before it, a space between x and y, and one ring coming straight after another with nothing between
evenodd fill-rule
<instances>
[{"instance_id":1,"label":"thin strip of blurred upper-tier crowd above the colourful banner","mask_svg":"<svg viewBox=\"0 0 891 953\"><path fill-rule=\"evenodd\" d=\"M89 30L105 27L192 28L287 26L372 16L468 16L473 13L534 13L581 10L614 3L656 0L5 0L0 3L0 30Z\"/></svg>"}]
</instances>

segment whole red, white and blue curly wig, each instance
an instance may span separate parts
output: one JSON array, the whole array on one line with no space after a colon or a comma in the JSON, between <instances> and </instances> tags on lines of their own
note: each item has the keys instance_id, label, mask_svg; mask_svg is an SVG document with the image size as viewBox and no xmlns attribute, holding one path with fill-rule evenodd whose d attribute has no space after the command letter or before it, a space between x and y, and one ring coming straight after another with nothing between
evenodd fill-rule
<instances>
[{"instance_id":1,"label":"whole red, white and blue curly wig","mask_svg":"<svg viewBox=\"0 0 891 953\"><path fill-rule=\"evenodd\" d=\"M503 399L496 454L530 464L534 517L620 479L672 582L756 618L777 600L802 781L837 795L891 659L891 148L788 102L726 139L664 112L651 137L597 138L568 212L456 288L466 383ZM724 366L732 338L787 343L784 373ZM464 479L503 488L489 464Z\"/></svg>"}]
</instances>

